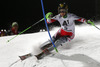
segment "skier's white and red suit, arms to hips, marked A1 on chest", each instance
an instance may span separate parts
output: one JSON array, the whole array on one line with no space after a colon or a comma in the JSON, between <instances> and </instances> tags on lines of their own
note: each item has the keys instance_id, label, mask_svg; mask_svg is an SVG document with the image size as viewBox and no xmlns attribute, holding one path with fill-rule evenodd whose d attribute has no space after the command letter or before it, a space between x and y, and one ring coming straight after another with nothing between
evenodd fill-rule
<instances>
[{"instance_id":1,"label":"skier's white and red suit, arms to hips, marked A1 on chest","mask_svg":"<svg viewBox=\"0 0 100 67\"><path fill-rule=\"evenodd\" d=\"M63 36L69 36L68 40L70 41L75 36L75 20L79 22L86 22L86 19L68 13L66 18L63 18L60 14L58 14L51 19L47 19L47 23L53 23L55 21L58 21L61 25L61 28L54 35L54 37L60 38Z\"/></svg>"}]
</instances>

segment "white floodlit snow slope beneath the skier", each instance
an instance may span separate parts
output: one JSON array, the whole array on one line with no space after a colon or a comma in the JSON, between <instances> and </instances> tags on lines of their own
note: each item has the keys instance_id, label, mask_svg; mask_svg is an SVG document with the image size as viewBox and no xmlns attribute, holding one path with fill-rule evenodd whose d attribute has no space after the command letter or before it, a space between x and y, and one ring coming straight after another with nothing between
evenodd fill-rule
<instances>
[{"instance_id":1,"label":"white floodlit snow slope beneath the skier","mask_svg":"<svg viewBox=\"0 0 100 67\"><path fill-rule=\"evenodd\" d=\"M55 27L50 31L51 35L58 29ZM19 60L18 56L40 53L39 46L49 39L47 31L19 35L7 43L12 37L0 37L0 67L10 67ZM11 67L100 67L100 30L90 25L76 25L75 38L59 46L58 51L53 50L52 54L38 61L32 56Z\"/></svg>"}]
</instances>

